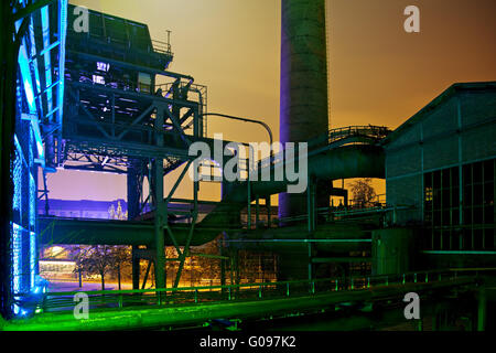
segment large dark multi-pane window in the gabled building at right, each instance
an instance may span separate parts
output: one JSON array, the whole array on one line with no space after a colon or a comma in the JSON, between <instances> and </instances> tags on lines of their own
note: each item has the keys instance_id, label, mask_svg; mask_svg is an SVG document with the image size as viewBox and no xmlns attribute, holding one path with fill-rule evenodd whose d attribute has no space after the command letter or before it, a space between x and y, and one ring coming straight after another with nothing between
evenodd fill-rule
<instances>
[{"instance_id":1,"label":"large dark multi-pane window in the gabled building at right","mask_svg":"<svg viewBox=\"0 0 496 353\"><path fill-rule=\"evenodd\" d=\"M423 221L430 249L496 248L495 164L493 159L464 164L461 170L453 167L424 174Z\"/></svg>"}]
</instances>

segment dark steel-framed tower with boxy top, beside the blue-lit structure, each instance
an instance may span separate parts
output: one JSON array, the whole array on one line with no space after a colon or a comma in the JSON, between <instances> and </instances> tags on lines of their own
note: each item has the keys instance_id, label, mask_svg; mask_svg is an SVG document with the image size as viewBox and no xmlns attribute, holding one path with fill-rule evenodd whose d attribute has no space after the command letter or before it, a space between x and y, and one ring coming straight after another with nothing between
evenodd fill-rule
<instances>
[{"instance_id":1,"label":"dark steel-framed tower with boxy top, beside the blue-lit structure","mask_svg":"<svg viewBox=\"0 0 496 353\"><path fill-rule=\"evenodd\" d=\"M154 264L157 286L163 288L164 232L174 242L166 203L191 164L190 145L205 137L207 90L188 75L166 71L170 44L152 41L145 24L96 11L89 11L89 20L88 33L68 31L63 139L47 148L56 167L128 175L129 218L151 208L155 229L155 244L148 252L133 248L133 284L139 286L137 259L145 258ZM163 176L183 163L164 197ZM145 179L149 195L143 195ZM190 239L197 182L193 189ZM177 253L182 268L188 245ZM180 276L181 270L176 285Z\"/></svg>"}]
</instances>

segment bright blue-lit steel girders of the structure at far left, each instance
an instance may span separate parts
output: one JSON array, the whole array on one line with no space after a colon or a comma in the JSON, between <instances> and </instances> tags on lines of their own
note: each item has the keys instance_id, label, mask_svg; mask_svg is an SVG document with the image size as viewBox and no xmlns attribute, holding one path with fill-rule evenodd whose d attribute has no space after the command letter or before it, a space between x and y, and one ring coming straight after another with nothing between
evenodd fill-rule
<instances>
[{"instance_id":1,"label":"bright blue-lit steel girders of the structure at far left","mask_svg":"<svg viewBox=\"0 0 496 353\"><path fill-rule=\"evenodd\" d=\"M45 150L52 143L60 143L62 137L64 76L60 73L65 69L67 0L32 4L21 0L19 3L21 8L13 10L13 14L25 12L15 22L15 30L23 31L24 21L28 26L21 33L18 54L14 150L10 168L13 183L10 308L14 315L25 315L34 311L36 296L45 290L37 269L37 174L39 168L45 168L47 162Z\"/></svg>"}]
</instances>

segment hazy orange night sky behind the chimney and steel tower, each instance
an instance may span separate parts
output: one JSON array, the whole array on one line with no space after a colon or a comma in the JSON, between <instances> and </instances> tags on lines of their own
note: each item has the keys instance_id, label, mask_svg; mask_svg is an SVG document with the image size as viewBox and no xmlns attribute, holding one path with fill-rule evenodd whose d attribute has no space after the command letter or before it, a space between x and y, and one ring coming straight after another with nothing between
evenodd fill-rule
<instances>
[{"instance_id":1,"label":"hazy orange night sky behind the chimney and steel tower","mask_svg":"<svg viewBox=\"0 0 496 353\"><path fill-rule=\"evenodd\" d=\"M208 110L261 119L278 139L280 0L69 2L148 23L157 40L171 30L170 68L208 86ZM409 4L420 8L420 33L403 31ZM452 83L496 81L495 13L494 0L327 0L331 127L396 128ZM260 127L215 117L208 131L267 138ZM125 176L62 171L48 186L53 199L126 199Z\"/></svg>"}]
</instances>

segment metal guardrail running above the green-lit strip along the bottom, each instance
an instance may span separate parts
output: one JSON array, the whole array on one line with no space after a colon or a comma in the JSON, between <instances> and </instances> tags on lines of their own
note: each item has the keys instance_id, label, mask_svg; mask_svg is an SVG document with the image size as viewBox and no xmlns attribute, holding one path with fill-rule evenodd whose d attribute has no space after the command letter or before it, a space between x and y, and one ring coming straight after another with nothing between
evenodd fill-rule
<instances>
[{"instance_id":1,"label":"metal guardrail running above the green-lit strip along the bottom","mask_svg":"<svg viewBox=\"0 0 496 353\"><path fill-rule=\"evenodd\" d=\"M137 290L85 291L90 309L131 307L184 306L219 301L247 301L305 297L352 290L370 290L406 284L421 284L454 280L461 277L478 278L481 274L496 275L496 268L446 269L414 271L399 275L355 276L348 278L324 278L226 286L182 287ZM42 311L60 312L72 310L74 296L80 291L47 292L40 304Z\"/></svg>"}]
</instances>

